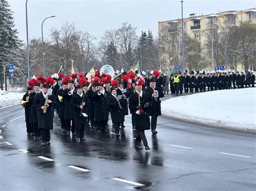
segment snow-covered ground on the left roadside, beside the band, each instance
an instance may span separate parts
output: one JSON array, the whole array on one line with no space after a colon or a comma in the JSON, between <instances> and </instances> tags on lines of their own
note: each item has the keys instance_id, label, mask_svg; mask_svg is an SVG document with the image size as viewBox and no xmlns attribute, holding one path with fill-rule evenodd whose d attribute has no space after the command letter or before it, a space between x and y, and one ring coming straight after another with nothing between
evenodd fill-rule
<instances>
[{"instance_id":1,"label":"snow-covered ground on the left roadside, beside the band","mask_svg":"<svg viewBox=\"0 0 256 191\"><path fill-rule=\"evenodd\" d=\"M24 94L24 88L14 88L14 92L0 90L0 109L20 104Z\"/></svg>"}]
</instances>

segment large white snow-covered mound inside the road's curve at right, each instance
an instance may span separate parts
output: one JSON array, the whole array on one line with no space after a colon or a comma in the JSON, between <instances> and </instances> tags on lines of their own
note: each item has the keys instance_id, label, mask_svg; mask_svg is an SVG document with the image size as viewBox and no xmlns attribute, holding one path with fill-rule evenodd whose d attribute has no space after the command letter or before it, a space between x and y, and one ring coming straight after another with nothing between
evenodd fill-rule
<instances>
[{"instance_id":1,"label":"large white snow-covered mound inside the road's curve at right","mask_svg":"<svg viewBox=\"0 0 256 191\"><path fill-rule=\"evenodd\" d=\"M210 91L170 98L162 114L213 126L256 131L256 88Z\"/></svg>"}]
</instances>

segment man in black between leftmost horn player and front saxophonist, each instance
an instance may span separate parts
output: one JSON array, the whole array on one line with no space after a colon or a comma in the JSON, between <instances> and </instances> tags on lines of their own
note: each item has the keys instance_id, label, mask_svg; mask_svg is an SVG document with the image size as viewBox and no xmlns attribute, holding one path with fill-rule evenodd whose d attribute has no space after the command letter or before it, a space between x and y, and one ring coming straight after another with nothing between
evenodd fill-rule
<instances>
[{"instance_id":1,"label":"man in black between leftmost horn player and front saxophonist","mask_svg":"<svg viewBox=\"0 0 256 191\"><path fill-rule=\"evenodd\" d=\"M34 85L34 91L35 91L35 96L36 94L39 93L40 90L40 83L35 83ZM34 140L37 140L40 138L40 131L38 129L38 123L37 123L37 111L35 108L35 103L33 101L35 100L35 96L31 96L29 99L31 99L31 108L30 108L30 116L29 116L29 123L31 123L33 127L33 132L34 132Z\"/></svg>"}]
</instances>

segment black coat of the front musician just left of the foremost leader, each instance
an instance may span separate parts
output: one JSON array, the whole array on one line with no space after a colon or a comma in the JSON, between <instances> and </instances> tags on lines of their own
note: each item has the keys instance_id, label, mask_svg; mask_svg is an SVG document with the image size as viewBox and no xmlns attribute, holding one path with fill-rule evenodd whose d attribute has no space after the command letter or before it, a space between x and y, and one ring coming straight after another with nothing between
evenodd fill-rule
<instances>
[{"instance_id":1,"label":"black coat of the front musician just left of the foremost leader","mask_svg":"<svg viewBox=\"0 0 256 191\"><path fill-rule=\"evenodd\" d=\"M112 123L121 123L124 121L124 111L120 108L117 98L110 95L107 98L107 103L109 104L110 114Z\"/></svg>"}]
</instances>

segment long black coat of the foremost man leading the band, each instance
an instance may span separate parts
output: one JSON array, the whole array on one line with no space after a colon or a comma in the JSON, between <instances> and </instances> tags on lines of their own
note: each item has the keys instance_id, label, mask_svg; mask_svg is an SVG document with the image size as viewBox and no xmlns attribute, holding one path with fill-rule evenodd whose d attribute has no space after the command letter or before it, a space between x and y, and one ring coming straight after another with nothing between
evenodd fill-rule
<instances>
[{"instance_id":1,"label":"long black coat of the foremost man leading the band","mask_svg":"<svg viewBox=\"0 0 256 191\"><path fill-rule=\"evenodd\" d=\"M139 97L138 97L137 91L130 95L129 97L129 109L134 114L136 113L137 109L136 107L139 105ZM143 131L143 130L150 130L150 118L149 118L149 107L144 108L144 104L149 103L153 104L153 98L149 93L146 93L145 91L142 94L142 97L140 97L140 105L142 105L142 109L144 110L144 114L135 114L135 124L136 124L136 130Z\"/></svg>"}]
</instances>

